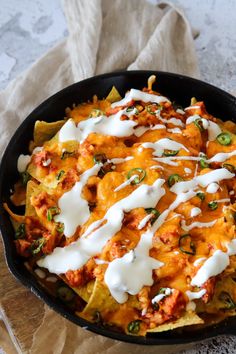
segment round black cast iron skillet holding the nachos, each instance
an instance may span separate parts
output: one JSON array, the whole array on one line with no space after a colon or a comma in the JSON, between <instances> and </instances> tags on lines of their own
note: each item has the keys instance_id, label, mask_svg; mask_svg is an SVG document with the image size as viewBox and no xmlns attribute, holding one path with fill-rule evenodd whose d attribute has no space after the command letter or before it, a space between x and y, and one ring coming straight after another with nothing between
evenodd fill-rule
<instances>
[{"instance_id":1,"label":"round black cast iron skillet holding the nachos","mask_svg":"<svg viewBox=\"0 0 236 354\"><path fill-rule=\"evenodd\" d=\"M129 336L99 327L71 314L59 300L48 295L29 271L25 269L23 260L16 254L13 242L13 228L2 204L4 201L9 201L10 189L19 178L16 168L17 158L19 154L26 154L28 152L28 142L32 139L35 121L45 120L52 122L62 119L65 115L66 107L71 107L73 103L87 101L94 94L98 95L99 98L104 98L113 85L116 86L121 95L124 95L132 87L141 89L147 85L147 79L152 74L157 76L157 86L155 84L154 87L157 87L159 92L180 105L184 107L188 106L191 97L195 96L198 100L204 100L209 113L222 120L235 119L235 97L202 81L166 72L128 71L99 75L73 84L56 93L40 104L24 120L12 137L2 159L0 167L0 228L5 246L6 261L13 275L56 312L75 324L86 327L90 331L103 336L130 343L170 345L199 341L219 334L236 334L236 317L207 329L194 331L185 329L177 333L170 331L159 334L148 334L146 337Z\"/></svg>"}]
</instances>

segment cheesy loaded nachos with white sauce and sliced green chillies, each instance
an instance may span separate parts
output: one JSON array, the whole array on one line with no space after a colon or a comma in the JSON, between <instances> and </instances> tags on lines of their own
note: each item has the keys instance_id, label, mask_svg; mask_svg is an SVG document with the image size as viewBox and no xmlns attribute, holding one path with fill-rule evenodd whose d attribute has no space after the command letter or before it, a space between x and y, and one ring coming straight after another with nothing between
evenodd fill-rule
<instances>
[{"instance_id":1,"label":"cheesy loaded nachos with white sauce and sliced green chillies","mask_svg":"<svg viewBox=\"0 0 236 354\"><path fill-rule=\"evenodd\" d=\"M236 315L236 124L154 81L36 122L11 196L25 215L5 205L38 281L131 335Z\"/></svg>"}]
</instances>

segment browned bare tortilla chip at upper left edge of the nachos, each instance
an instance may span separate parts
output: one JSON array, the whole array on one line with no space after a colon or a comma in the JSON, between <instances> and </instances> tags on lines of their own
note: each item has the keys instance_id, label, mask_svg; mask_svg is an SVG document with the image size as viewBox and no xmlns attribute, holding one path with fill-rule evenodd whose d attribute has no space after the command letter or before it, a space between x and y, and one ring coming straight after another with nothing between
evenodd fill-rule
<instances>
[{"instance_id":1,"label":"browned bare tortilla chip at upper left edge of the nachos","mask_svg":"<svg viewBox=\"0 0 236 354\"><path fill-rule=\"evenodd\" d=\"M64 124L64 120L58 120L52 123L37 120L34 126L35 146L42 146L45 141L50 140Z\"/></svg>"}]
</instances>

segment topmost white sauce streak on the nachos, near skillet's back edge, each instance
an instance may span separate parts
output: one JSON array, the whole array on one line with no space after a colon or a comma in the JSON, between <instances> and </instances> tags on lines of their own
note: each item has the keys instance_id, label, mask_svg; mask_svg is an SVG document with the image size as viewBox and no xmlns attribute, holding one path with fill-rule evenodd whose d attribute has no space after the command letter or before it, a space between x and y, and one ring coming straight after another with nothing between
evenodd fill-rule
<instances>
[{"instance_id":1,"label":"topmost white sauce streak on the nachos, near skillet's back edge","mask_svg":"<svg viewBox=\"0 0 236 354\"><path fill-rule=\"evenodd\" d=\"M125 106L132 100L142 102L154 102L157 104L161 102L170 102L164 96L153 95L140 90L131 89L129 92L126 93L125 97L122 100L112 103L111 107L114 108L118 106Z\"/></svg>"}]
</instances>

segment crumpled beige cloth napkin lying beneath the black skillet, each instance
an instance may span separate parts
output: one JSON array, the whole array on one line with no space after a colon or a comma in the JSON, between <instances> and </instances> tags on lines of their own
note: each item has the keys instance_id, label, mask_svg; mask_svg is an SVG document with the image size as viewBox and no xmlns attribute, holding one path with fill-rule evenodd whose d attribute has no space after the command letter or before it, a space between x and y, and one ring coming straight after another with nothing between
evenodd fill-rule
<instances>
[{"instance_id":1,"label":"crumpled beige cloth napkin lying beneath the black skillet","mask_svg":"<svg viewBox=\"0 0 236 354\"><path fill-rule=\"evenodd\" d=\"M119 69L198 76L192 31L181 10L144 0L65 0L69 37L0 92L3 152L24 118L44 99L76 81ZM43 117L42 117L43 119ZM182 347L181 347L182 348ZM170 353L181 349L163 349ZM31 353L156 353L91 334L45 306Z\"/></svg>"}]
</instances>

